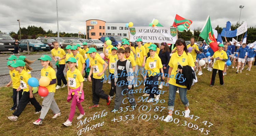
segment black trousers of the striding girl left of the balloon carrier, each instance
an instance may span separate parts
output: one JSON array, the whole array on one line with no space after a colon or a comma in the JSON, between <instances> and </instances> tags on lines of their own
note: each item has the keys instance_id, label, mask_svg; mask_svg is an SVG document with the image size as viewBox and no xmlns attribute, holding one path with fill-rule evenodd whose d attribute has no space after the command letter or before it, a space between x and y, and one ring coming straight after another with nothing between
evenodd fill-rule
<instances>
[{"instance_id":1,"label":"black trousers of the striding girl left of the balloon carrier","mask_svg":"<svg viewBox=\"0 0 256 136\"><path fill-rule=\"evenodd\" d=\"M23 92L22 98L19 101L18 108L13 112L12 115L19 117L22 111L26 108L28 102L31 102L31 104L35 107L35 111L40 111L42 109L34 96L33 98L30 98L29 92Z\"/></svg>"}]
</instances>

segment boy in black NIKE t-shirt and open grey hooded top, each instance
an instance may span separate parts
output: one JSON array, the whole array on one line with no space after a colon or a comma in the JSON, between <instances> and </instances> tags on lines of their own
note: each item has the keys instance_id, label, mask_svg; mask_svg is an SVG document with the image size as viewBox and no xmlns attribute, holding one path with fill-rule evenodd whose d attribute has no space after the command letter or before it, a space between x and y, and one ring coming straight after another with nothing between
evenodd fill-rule
<instances>
[{"instance_id":1,"label":"boy in black NIKE t-shirt and open grey hooded top","mask_svg":"<svg viewBox=\"0 0 256 136\"><path fill-rule=\"evenodd\" d=\"M129 90L132 88L132 81L134 75L131 62L125 59L125 51L120 48L117 50L118 60L115 62L115 86L116 86L116 97L115 97L115 106L112 112L117 111L120 108L120 105L123 101L123 95L127 95L127 97L134 100L133 93L129 93ZM129 84L128 84L129 83ZM131 104L131 108L135 108L137 106L135 101L129 103Z\"/></svg>"}]
</instances>

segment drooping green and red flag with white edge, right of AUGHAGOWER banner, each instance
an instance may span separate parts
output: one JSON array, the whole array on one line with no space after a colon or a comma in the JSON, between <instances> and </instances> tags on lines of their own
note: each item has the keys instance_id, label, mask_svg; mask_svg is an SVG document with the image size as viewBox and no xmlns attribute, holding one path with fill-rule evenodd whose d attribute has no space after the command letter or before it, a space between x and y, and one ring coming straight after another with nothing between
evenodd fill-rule
<instances>
[{"instance_id":1,"label":"drooping green and red flag with white edge, right of AUGHAGOWER banner","mask_svg":"<svg viewBox=\"0 0 256 136\"><path fill-rule=\"evenodd\" d=\"M213 34L210 16L207 17L199 36L202 37L203 40L205 40L205 43L210 45L214 52L218 50L218 44Z\"/></svg>"}]
</instances>

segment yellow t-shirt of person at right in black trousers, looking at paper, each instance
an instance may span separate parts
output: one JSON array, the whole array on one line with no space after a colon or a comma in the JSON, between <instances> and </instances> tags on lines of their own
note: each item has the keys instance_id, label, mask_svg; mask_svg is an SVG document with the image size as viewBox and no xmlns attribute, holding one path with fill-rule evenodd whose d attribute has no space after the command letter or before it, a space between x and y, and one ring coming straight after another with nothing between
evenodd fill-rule
<instances>
[{"instance_id":1,"label":"yellow t-shirt of person at right in black trousers, looking at paper","mask_svg":"<svg viewBox=\"0 0 256 136\"><path fill-rule=\"evenodd\" d=\"M222 59L228 59L228 56L227 56L227 54L224 50L215 51L212 57L213 58L219 57L219 58L222 58ZM216 60L215 64L213 65L213 69L224 70L224 65L225 65L225 61Z\"/></svg>"}]
</instances>

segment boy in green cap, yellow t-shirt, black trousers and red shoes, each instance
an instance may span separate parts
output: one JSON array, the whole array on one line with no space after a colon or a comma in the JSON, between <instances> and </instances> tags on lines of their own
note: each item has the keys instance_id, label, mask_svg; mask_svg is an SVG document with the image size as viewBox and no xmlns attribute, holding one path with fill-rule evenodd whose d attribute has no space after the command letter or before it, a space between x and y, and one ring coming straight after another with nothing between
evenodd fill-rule
<instances>
[{"instance_id":1,"label":"boy in green cap, yellow t-shirt, black trousers and red shoes","mask_svg":"<svg viewBox=\"0 0 256 136\"><path fill-rule=\"evenodd\" d=\"M104 71L107 69L108 64L100 57L96 56L97 50L95 48L89 48L89 51L86 53L90 55L92 58L90 60L90 73L88 76L88 80L91 82L93 81L92 84L92 92L93 92L93 106L90 106L89 108L94 108L99 106L99 101L100 98L106 99L106 104L110 104L110 96L105 94L104 91L102 90L103 86L103 77L104 77ZM103 69L104 65L104 69Z\"/></svg>"}]
</instances>

